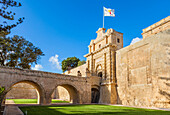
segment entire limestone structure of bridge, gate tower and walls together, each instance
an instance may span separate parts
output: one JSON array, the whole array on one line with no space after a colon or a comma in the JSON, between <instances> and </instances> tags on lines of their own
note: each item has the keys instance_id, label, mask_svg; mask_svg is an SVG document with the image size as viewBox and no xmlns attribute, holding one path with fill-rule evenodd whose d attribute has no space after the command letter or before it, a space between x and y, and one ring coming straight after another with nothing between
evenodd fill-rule
<instances>
[{"instance_id":1,"label":"entire limestone structure of bridge, gate tower and walls together","mask_svg":"<svg viewBox=\"0 0 170 115\"><path fill-rule=\"evenodd\" d=\"M73 103L170 108L170 16L143 29L144 39L125 48L122 33L96 33L86 64L64 74L0 67L0 85L29 83L40 104L50 104L55 88L63 86Z\"/></svg>"}]
</instances>

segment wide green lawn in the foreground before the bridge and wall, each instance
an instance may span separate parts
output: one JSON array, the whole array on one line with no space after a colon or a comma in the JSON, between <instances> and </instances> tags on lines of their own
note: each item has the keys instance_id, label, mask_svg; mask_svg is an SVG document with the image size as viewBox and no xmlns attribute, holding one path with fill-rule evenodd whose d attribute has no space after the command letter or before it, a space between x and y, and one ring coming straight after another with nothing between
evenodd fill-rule
<instances>
[{"instance_id":1,"label":"wide green lawn in the foreground before the bridge and wall","mask_svg":"<svg viewBox=\"0 0 170 115\"><path fill-rule=\"evenodd\" d=\"M170 111L120 107L110 105L62 105L19 107L28 115L170 115Z\"/></svg>"}]
</instances>

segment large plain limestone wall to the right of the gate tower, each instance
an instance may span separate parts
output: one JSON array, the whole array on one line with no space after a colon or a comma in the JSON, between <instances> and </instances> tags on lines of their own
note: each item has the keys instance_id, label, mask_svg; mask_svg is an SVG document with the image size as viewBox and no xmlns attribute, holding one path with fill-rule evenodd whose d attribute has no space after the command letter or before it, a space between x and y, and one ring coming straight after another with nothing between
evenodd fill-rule
<instances>
[{"instance_id":1,"label":"large plain limestone wall to the right of the gate tower","mask_svg":"<svg viewBox=\"0 0 170 115\"><path fill-rule=\"evenodd\" d=\"M116 52L123 105L170 108L170 29Z\"/></svg>"}]
</instances>

